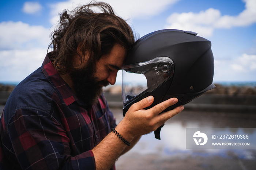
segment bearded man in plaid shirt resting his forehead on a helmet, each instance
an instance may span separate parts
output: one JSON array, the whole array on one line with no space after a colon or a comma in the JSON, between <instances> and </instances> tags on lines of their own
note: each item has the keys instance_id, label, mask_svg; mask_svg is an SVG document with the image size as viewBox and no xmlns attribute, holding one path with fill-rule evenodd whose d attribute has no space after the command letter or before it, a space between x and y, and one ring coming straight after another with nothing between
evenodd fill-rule
<instances>
[{"instance_id":1,"label":"bearded man in plaid shirt resting his forehead on a helmet","mask_svg":"<svg viewBox=\"0 0 256 170\"><path fill-rule=\"evenodd\" d=\"M154 100L149 96L115 124L102 87L115 83L133 42L131 28L108 4L64 11L52 33L53 51L5 105L0 169L114 169L141 135L181 112L184 107L159 115L176 98L145 110Z\"/></svg>"}]
</instances>

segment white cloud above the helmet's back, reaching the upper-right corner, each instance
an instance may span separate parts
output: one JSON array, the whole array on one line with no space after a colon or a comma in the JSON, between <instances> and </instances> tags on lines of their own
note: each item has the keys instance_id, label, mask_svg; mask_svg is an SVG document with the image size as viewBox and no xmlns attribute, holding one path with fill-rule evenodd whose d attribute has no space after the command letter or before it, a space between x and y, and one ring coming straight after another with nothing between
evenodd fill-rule
<instances>
[{"instance_id":1,"label":"white cloud above the helmet's back, reaching the upper-right corner","mask_svg":"<svg viewBox=\"0 0 256 170\"><path fill-rule=\"evenodd\" d=\"M256 1L243 0L245 9L237 16L224 15L218 9L209 8L199 13L173 13L167 19L166 28L198 32L200 36L211 36L217 28L249 26L256 23Z\"/></svg>"}]
</instances>

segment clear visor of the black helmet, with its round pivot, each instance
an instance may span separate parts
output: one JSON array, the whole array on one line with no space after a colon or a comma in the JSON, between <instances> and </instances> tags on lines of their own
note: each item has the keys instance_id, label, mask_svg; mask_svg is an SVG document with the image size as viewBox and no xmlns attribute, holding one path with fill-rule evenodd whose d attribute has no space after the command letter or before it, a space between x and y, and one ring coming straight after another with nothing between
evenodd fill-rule
<instances>
[{"instance_id":1,"label":"clear visor of the black helmet, with its round pivot","mask_svg":"<svg viewBox=\"0 0 256 170\"><path fill-rule=\"evenodd\" d=\"M165 80L172 77L174 64L169 57L157 57L150 61L123 67L123 105L134 97L152 92Z\"/></svg>"}]
</instances>

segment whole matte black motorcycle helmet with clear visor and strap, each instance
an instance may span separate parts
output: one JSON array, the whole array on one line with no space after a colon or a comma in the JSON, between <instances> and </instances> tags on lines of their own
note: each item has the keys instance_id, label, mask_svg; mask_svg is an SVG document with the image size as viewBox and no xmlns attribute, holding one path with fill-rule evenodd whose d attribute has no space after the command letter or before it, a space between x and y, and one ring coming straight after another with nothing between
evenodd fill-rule
<instances>
[{"instance_id":1,"label":"whole matte black motorcycle helmet with clear visor and strap","mask_svg":"<svg viewBox=\"0 0 256 170\"><path fill-rule=\"evenodd\" d=\"M159 30L134 43L123 67L124 116L133 103L151 95L154 102L148 108L169 98L178 98L177 104L165 110L168 111L215 87L211 42L196 34ZM160 130L155 131L157 139L160 139Z\"/></svg>"}]
</instances>

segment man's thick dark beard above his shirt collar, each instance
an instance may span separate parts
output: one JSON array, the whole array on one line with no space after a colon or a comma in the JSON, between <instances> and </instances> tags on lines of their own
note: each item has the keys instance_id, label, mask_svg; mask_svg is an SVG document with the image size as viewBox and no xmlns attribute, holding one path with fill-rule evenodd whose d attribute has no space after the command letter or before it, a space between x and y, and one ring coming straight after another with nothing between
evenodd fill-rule
<instances>
[{"instance_id":1,"label":"man's thick dark beard above his shirt collar","mask_svg":"<svg viewBox=\"0 0 256 170\"><path fill-rule=\"evenodd\" d=\"M102 86L109 85L106 80L97 81L95 71L94 64L87 64L83 70L75 70L70 74L77 96L88 105L97 104L103 92Z\"/></svg>"}]
</instances>

